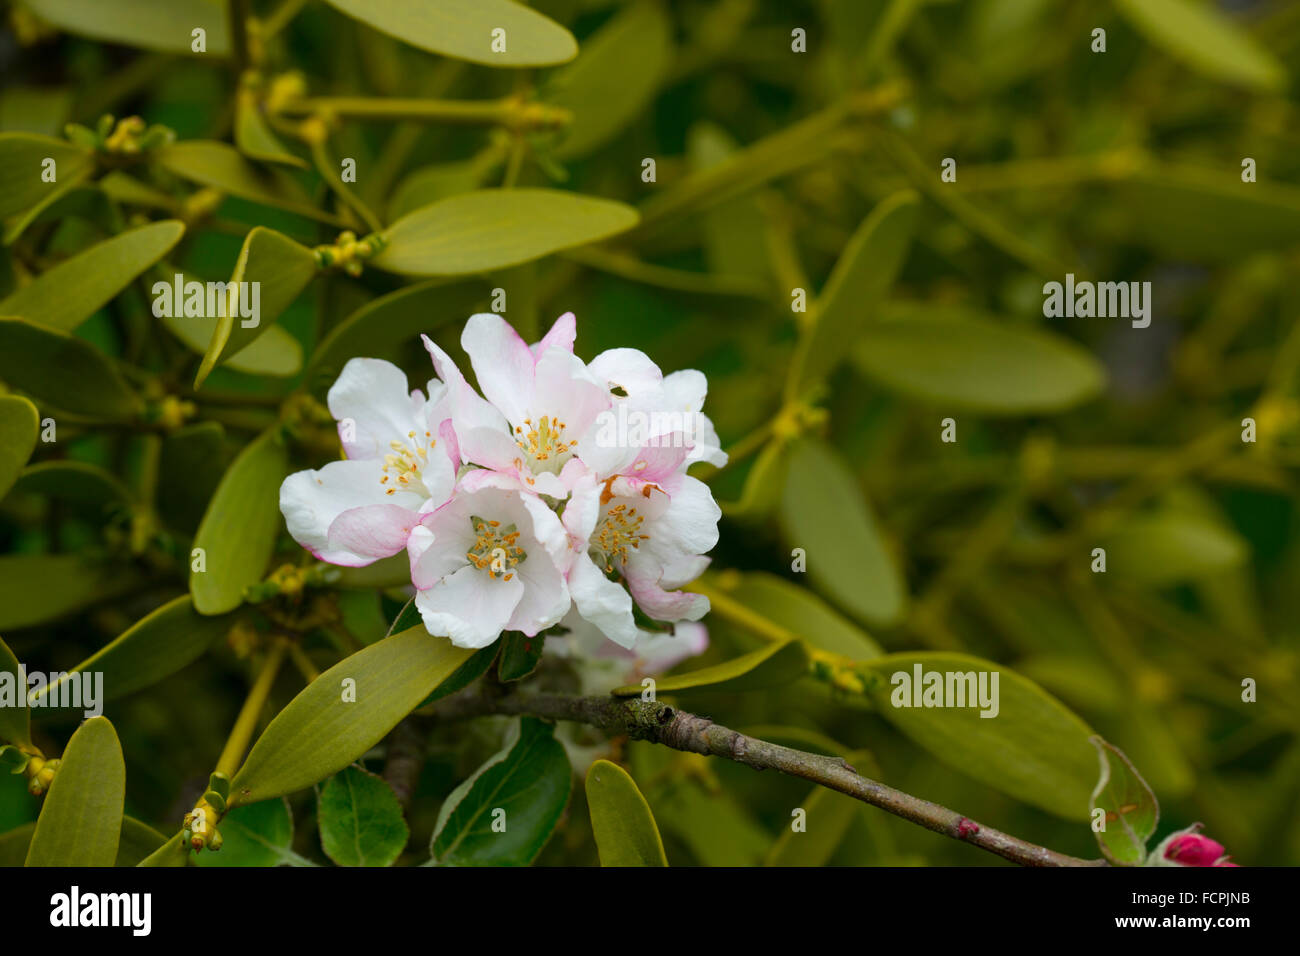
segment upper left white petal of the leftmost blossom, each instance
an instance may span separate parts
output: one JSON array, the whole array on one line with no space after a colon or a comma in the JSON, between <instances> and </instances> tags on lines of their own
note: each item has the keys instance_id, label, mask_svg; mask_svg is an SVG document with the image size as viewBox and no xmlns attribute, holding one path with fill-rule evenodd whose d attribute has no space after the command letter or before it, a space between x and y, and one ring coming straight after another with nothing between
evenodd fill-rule
<instances>
[{"instance_id":1,"label":"upper left white petal of the leftmost blossom","mask_svg":"<svg viewBox=\"0 0 1300 956\"><path fill-rule=\"evenodd\" d=\"M406 373L382 359L350 359L330 386L330 414L350 459L377 458L416 425Z\"/></svg>"}]
</instances>

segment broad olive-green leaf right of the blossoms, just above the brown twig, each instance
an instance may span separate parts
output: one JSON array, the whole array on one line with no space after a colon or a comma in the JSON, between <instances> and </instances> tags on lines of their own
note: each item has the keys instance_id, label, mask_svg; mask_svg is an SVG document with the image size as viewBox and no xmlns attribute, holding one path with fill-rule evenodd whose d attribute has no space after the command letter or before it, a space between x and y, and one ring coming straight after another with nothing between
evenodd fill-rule
<instances>
[{"instance_id":1,"label":"broad olive-green leaf right of the blossoms, just above the brown twig","mask_svg":"<svg viewBox=\"0 0 1300 956\"><path fill-rule=\"evenodd\" d=\"M880 717L944 763L1058 817L1087 818L1097 777L1097 757L1088 743L1092 731L1041 687L992 661L946 652L887 654L864 666L876 678L867 693ZM982 672L988 675L985 700L996 700L991 706L978 700ZM958 675L975 679L974 705L967 693L971 676ZM927 689L931 706L924 705ZM965 706L956 706L963 697ZM933 706L936 700L954 706ZM982 717L994 709L996 715Z\"/></svg>"}]
</instances>

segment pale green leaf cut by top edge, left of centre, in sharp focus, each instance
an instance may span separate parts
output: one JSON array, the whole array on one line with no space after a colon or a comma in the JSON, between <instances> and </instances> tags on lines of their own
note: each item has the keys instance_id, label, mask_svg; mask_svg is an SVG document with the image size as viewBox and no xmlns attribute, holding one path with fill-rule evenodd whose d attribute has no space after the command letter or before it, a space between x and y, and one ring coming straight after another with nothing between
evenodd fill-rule
<instances>
[{"instance_id":1,"label":"pale green leaf cut by top edge, left of centre, in sharp focus","mask_svg":"<svg viewBox=\"0 0 1300 956\"><path fill-rule=\"evenodd\" d=\"M326 3L412 47L488 66L550 66L572 60L577 53L577 42L568 30L514 0ZM494 30L502 31L495 34L497 49L493 48Z\"/></svg>"}]
</instances>

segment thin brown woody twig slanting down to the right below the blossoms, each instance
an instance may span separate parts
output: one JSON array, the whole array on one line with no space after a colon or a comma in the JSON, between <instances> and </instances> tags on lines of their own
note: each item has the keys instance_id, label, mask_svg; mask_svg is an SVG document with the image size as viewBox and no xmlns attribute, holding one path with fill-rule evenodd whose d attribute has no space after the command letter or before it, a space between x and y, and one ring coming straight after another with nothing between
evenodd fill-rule
<instances>
[{"instance_id":1,"label":"thin brown woody twig slanting down to the right below the blossoms","mask_svg":"<svg viewBox=\"0 0 1300 956\"><path fill-rule=\"evenodd\" d=\"M842 757L807 753L746 736L714 723L707 717L690 714L662 701L474 691L448 697L433 713L441 719L503 714L584 723L611 736L649 740L675 750L732 760L754 770L776 770L800 777L1022 866L1106 866L1105 860L1057 853L976 823L946 806L887 787L859 774Z\"/></svg>"}]
</instances>

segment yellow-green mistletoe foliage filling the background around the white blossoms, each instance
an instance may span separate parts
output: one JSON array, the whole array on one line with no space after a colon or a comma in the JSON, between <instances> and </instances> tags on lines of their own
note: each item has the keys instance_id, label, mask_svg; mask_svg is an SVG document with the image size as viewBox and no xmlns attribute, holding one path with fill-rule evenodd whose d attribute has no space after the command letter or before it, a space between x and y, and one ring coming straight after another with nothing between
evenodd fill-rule
<instances>
[{"instance_id":1,"label":"yellow-green mistletoe foliage filling the background around the white blossoms","mask_svg":"<svg viewBox=\"0 0 1300 956\"><path fill-rule=\"evenodd\" d=\"M299 666L259 728L304 674L398 646L381 639L400 574L264 583L303 566L274 492L337 457L318 401L347 358L421 381L416 333L454 346L493 289L525 336L572 310L585 356L630 346L708 376L736 460L708 476L724 502L712 644L679 670L744 663L684 680L693 710L1080 856L1096 855L1093 728L1160 796L1161 831L1204 821L1245 865L1300 860L1300 124L1284 66L1300 7L540 0L549 20L511 27L510 64L482 30L436 29L455 7L391 4L395 21L368 25L351 0L242 5L261 23L243 79L224 4L0 8L0 633L47 671L125 636L88 665L116 695L116 736L90 722L70 741L75 715L32 711L47 754L92 750L96 800L112 804L100 791L125 762L117 861L148 856L208 786L254 672L283 653L272 631L295 635ZM205 55L188 51L195 25ZM335 121L304 98L342 98ZM359 116L369 98L425 105ZM478 105L429 105L443 100ZM65 137L69 122L83 129ZM44 156L57 190L32 173ZM1240 179L1247 156L1257 183ZM320 268L315 247L376 225L387 245L359 276ZM458 232L480 228L477 243ZM150 286L176 272L263 281L256 337L153 319ZM1066 272L1150 281L1152 325L1044 319L1043 284ZM47 416L55 444L36 437ZM207 575L191 578L192 546ZM1088 571L1096 546L1105 575ZM744 657L788 637L794 650ZM462 662L407 644L429 656L421 675ZM889 709L888 674L918 653L997 662L1002 715ZM437 830L447 861L595 864L592 819L641 818L618 766L571 786L549 730L486 719L421 724L403 821L376 777L396 741L380 737L429 687L390 676L410 706L354 735L355 753L272 749L315 719L285 711L242 771L268 799L231 812L202 862L419 864ZM630 770L673 865L988 861L798 780L567 740ZM476 769L547 783L532 842L484 838ZM40 809L25 784L0 779L6 864ZM73 791L46 797L51 829L86 810ZM588 813L589 793L615 803ZM790 834L793 806L826 826ZM348 839L360 819L364 847ZM623 852L656 845L641 832Z\"/></svg>"}]
</instances>

